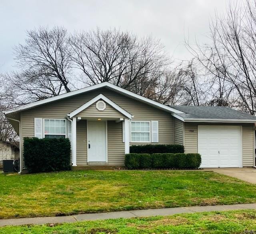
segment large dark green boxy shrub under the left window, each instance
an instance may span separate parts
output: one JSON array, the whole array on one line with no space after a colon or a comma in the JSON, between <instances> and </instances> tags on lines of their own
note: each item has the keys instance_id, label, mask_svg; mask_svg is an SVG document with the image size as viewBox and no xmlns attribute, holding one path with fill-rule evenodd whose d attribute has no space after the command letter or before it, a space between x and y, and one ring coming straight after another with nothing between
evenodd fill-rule
<instances>
[{"instance_id":1,"label":"large dark green boxy shrub under the left window","mask_svg":"<svg viewBox=\"0 0 256 234\"><path fill-rule=\"evenodd\" d=\"M29 173L70 170L70 141L24 138L24 163Z\"/></svg>"}]
</instances>

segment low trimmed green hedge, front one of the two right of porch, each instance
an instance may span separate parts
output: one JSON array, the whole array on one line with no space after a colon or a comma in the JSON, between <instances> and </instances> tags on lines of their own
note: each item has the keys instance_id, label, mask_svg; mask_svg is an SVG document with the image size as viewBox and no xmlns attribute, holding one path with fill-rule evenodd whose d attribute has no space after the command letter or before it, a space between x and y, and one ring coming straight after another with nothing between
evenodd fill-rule
<instances>
[{"instance_id":1,"label":"low trimmed green hedge, front one of the two right of porch","mask_svg":"<svg viewBox=\"0 0 256 234\"><path fill-rule=\"evenodd\" d=\"M197 169L201 164L199 153L128 153L128 169Z\"/></svg>"}]
</instances>

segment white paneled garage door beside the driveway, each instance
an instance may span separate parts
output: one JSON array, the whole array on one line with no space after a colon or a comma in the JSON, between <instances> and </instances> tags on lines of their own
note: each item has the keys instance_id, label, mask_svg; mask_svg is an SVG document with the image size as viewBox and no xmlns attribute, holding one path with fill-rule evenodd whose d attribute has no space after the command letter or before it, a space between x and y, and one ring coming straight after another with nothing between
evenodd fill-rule
<instances>
[{"instance_id":1,"label":"white paneled garage door beside the driveway","mask_svg":"<svg viewBox=\"0 0 256 234\"><path fill-rule=\"evenodd\" d=\"M200 167L242 167L240 126L198 125Z\"/></svg>"}]
</instances>

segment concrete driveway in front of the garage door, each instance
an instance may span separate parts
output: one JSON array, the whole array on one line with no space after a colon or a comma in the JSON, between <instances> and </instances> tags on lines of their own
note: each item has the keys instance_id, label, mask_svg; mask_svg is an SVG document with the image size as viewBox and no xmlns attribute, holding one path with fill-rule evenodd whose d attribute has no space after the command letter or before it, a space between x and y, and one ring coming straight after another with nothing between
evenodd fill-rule
<instances>
[{"instance_id":1,"label":"concrete driveway in front of the garage door","mask_svg":"<svg viewBox=\"0 0 256 234\"><path fill-rule=\"evenodd\" d=\"M255 168L212 168L211 171L256 184Z\"/></svg>"}]
</instances>

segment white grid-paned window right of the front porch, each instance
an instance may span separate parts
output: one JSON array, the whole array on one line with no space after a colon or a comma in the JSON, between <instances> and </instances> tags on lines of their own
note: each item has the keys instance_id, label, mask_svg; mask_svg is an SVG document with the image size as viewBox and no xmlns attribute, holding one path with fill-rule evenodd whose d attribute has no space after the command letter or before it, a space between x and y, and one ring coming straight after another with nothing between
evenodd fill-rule
<instances>
[{"instance_id":1,"label":"white grid-paned window right of the front porch","mask_svg":"<svg viewBox=\"0 0 256 234\"><path fill-rule=\"evenodd\" d=\"M131 122L131 142L150 142L150 121Z\"/></svg>"}]
</instances>

